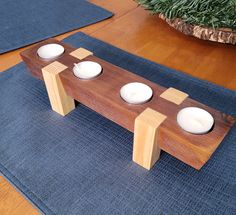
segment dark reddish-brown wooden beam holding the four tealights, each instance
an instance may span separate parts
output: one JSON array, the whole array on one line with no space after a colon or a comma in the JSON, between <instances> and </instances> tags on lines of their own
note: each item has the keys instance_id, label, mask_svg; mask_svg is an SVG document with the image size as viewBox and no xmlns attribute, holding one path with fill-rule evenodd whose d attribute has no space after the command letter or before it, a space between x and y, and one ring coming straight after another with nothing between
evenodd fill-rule
<instances>
[{"instance_id":1,"label":"dark reddish-brown wooden beam holding the four tealights","mask_svg":"<svg viewBox=\"0 0 236 215\"><path fill-rule=\"evenodd\" d=\"M50 41L52 41L52 39ZM45 41L45 43L47 42L48 41ZM59 41L53 42L60 43ZM43 43L41 45L43 45ZM67 44L61 43L61 45L63 45L66 50L70 50L70 52L76 50L76 48ZM26 64L31 65L29 67L36 65L37 71L33 70L32 74L36 77L40 77L40 67L44 67L45 62L37 57L37 49L38 47L36 46L27 50L22 53L22 56L24 60L26 59ZM62 71L59 76L66 93L70 97L131 132L134 132L136 117L146 108L151 108L156 112L166 115L167 119L162 123L158 132L160 138L158 144L160 148L196 169L200 169L207 162L232 126L232 123L226 120L226 115L194 101L191 98L185 98L179 105L161 98L160 95L163 95L163 92L167 90L166 88L96 56L88 56L83 60L99 63L103 68L102 74L92 80L78 79L73 74L73 64L81 61L71 56L69 54L70 52L66 51L57 59L58 62L68 67L68 69ZM130 105L123 101L119 94L120 89L130 82L141 82L149 85L153 90L152 99L142 105ZM170 91L172 93L175 92L178 96L187 96L187 94L180 91L173 89ZM205 109L211 113L215 119L214 129L211 132L204 135L194 135L185 132L178 126L176 121L178 112L182 108L191 106Z\"/></svg>"}]
</instances>

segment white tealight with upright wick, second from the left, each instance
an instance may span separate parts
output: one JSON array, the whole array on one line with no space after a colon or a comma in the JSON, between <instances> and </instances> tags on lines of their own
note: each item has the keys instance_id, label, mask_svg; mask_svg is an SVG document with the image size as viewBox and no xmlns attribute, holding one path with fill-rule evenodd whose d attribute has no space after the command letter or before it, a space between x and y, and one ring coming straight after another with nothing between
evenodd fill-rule
<instances>
[{"instance_id":1,"label":"white tealight with upright wick, second from the left","mask_svg":"<svg viewBox=\"0 0 236 215\"><path fill-rule=\"evenodd\" d=\"M93 61L83 61L75 64L73 68L74 75L81 79L92 79L99 76L102 72L100 64Z\"/></svg>"}]
</instances>

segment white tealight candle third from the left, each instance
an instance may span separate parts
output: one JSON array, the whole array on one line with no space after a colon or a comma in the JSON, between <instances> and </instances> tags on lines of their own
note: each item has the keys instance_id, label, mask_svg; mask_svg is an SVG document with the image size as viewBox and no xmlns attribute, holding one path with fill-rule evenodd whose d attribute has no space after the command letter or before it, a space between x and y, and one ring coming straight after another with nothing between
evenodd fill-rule
<instances>
[{"instance_id":1,"label":"white tealight candle third from the left","mask_svg":"<svg viewBox=\"0 0 236 215\"><path fill-rule=\"evenodd\" d=\"M126 84L120 89L121 98L130 104L143 104L151 99L152 94L151 87L138 82Z\"/></svg>"}]
</instances>

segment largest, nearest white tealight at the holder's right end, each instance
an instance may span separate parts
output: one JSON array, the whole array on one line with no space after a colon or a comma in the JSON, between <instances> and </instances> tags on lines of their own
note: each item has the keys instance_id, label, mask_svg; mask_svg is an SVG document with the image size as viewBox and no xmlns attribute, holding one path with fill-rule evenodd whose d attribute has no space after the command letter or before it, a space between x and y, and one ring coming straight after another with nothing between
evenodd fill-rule
<instances>
[{"instance_id":1,"label":"largest, nearest white tealight at the holder's right end","mask_svg":"<svg viewBox=\"0 0 236 215\"><path fill-rule=\"evenodd\" d=\"M214 124L212 115L197 107L187 107L177 114L177 122L185 131L192 134L205 134Z\"/></svg>"}]
</instances>

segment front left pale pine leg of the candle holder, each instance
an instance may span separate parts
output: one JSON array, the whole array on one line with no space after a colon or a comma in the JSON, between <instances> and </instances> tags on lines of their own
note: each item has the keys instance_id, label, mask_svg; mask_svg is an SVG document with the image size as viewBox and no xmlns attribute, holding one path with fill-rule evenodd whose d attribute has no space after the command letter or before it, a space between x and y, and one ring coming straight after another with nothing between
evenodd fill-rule
<instances>
[{"instance_id":1,"label":"front left pale pine leg of the candle holder","mask_svg":"<svg viewBox=\"0 0 236 215\"><path fill-rule=\"evenodd\" d=\"M67 95L59 77L59 73L65 69L67 69L67 66L57 61L42 68L51 107L62 116L75 108L74 99Z\"/></svg>"}]
</instances>

